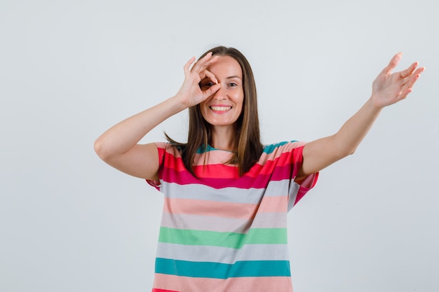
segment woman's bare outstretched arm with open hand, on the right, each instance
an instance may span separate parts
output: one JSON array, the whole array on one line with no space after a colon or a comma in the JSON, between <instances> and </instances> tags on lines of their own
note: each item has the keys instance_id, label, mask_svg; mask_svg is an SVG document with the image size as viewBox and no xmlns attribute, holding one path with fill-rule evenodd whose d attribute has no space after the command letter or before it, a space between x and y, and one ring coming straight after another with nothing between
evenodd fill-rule
<instances>
[{"instance_id":1,"label":"woman's bare outstretched arm with open hand, on the right","mask_svg":"<svg viewBox=\"0 0 439 292\"><path fill-rule=\"evenodd\" d=\"M401 56L402 53L393 56L389 65L372 83L370 99L344 123L336 134L312 141L304 146L304 162L298 176L318 172L354 153L381 109L405 99L412 92L412 87L424 71L424 67L418 67L419 64L414 62L407 69L392 73Z\"/></svg>"}]
</instances>

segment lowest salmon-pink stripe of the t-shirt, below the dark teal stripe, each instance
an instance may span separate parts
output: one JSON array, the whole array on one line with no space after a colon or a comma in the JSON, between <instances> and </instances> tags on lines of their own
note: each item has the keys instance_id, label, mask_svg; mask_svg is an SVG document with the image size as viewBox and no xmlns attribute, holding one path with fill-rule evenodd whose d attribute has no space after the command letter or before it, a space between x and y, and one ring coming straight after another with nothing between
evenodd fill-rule
<instances>
[{"instance_id":1,"label":"lowest salmon-pink stripe of the t-shirt, below the dark teal stripe","mask_svg":"<svg viewBox=\"0 0 439 292\"><path fill-rule=\"evenodd\" d=\"M179 277L169 274L155 274L154 287L179 292L292 292L290 277L239 277L229 279L208 279ZM156 290L161 291L161 290ZM155 292L153 290L153 292Z\"/></svg>"}]
</instances>

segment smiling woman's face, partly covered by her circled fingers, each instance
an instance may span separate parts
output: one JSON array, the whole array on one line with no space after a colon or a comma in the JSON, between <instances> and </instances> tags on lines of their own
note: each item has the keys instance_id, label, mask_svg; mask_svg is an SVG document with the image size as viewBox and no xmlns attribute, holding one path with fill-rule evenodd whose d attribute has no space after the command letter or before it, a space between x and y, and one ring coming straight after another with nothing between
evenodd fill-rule
<instances>
[{"instance_id":1,"label":"smiling woman's face, partly covered by her circled fingers","mask_svg":"<svg viewBox=\"0 0 439 292\"><path fill-rule=\"evenodd\" d=\"M213 126L234 125L243 109L243 71L233 57L221 56L208 67L217 78L221 88L215 94L201 102L203 118ZM201 90L206 90L213 83L210 78L201 81Z\"/></svg>"}]
</instances>

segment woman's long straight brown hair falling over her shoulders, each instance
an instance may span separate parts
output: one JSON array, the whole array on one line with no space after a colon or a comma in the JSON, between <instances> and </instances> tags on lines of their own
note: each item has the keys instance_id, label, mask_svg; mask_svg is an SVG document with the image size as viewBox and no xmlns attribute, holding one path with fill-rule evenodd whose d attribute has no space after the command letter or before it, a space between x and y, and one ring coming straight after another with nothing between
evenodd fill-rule
<instances>
[{"instance_id":1,"label":"woman's long straight brown hair falling over her shoulders","mask_svg":"<svg viewBox=\"0 0 439 292\"><path fill-rule=\"evenodd\" d=\"M261 143L259 131L259 118L257 112L257 92L255 77L253 76L250 63L245 56L236 48L218 46L205 52L199 59L212 52L212 55L233 57L243 71L243 110L236 120L236 135L234 141L234 153L229 163L238 165L239 175L242 176L255 165L262 154L264 147ZM199 60L198 59L198 60ZM211 125L203 118L199 104L189 108L189 132L187 143L179 143L171 139L166 133L166 139L182 151L184 166L194 174L194 157L198 148L207 149L210 141Z\"/></svg>"}]
</instances>

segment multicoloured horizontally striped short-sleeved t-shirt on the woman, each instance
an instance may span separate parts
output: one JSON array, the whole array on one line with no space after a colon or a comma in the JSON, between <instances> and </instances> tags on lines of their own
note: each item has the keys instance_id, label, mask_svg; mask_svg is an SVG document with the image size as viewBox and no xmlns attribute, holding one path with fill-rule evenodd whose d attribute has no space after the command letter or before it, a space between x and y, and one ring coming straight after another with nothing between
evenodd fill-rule
<instances>
[{"instance_id":1,"label":"multicoloured horizontally striped short-sleeved t-shirt on the woman","mask_svg":"<svg viewBox=\"0 0 439 292\"><path fill-rule=\"evenodd\" d=\"M296 178L304 143L265 146L241 177L229 151L198 151L195 177L175 146L156 145L159 181L148 182L164 204L152 291L291 292L287 213L318 177Z\"/></svg>"}]
</instances>

